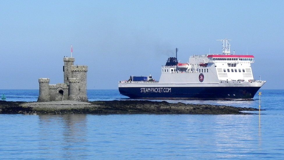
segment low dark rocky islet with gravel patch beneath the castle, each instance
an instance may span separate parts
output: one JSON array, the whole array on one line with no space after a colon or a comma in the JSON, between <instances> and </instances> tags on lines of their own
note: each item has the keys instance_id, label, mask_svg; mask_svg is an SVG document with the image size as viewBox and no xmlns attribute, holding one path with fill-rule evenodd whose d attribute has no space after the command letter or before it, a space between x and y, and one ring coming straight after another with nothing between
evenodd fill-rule
<instances>
[{"instance_id":1,"label":"low dark rocky islet with gravel patch beneath the castle","mask_svg":"<svg viewBox=\"0 0 284 160\"><path fill-rule=\"evenodd\" d=\"M209 104L168 103L166 101L54 101L54 102L8 102L0 101L1 114L250 114L240 111L256 111Z\"/></svg>"}]
</instances>

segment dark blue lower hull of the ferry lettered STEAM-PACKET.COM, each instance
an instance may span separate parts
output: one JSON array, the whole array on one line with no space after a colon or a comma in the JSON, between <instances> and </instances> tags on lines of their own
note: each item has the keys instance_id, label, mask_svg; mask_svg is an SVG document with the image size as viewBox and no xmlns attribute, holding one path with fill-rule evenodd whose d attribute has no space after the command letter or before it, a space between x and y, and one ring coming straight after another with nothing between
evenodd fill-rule
<instances>
[{"instance_id":1,"label":"dark blue lower hull of the ferry lettered STEAM-PACKET.COM","mask_svg":"<svg viewBox=\"0 0 284 160\"><path fill-rule=\"evenodd\" d=\"M119 87L129 98L253 99L260 87Z\"/></svg>"}]
</instances>

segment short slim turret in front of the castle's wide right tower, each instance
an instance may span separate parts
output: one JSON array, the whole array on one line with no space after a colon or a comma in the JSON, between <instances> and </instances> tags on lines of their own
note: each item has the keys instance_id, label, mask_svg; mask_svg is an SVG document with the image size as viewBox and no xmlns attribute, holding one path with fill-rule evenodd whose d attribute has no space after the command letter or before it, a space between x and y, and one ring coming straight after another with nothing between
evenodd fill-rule
<instances>
[{"instance_id":1,"label":"short slim turret in front of the castle's wide right tower","mask_svg":"<svg viewBox=\"0 0 284 160\"><path fill-rule=\"evenodd\" d=\"M71 101L80 100L79 80L77 78L69 79L69 100Z\"/></svg>"}]
</instances>

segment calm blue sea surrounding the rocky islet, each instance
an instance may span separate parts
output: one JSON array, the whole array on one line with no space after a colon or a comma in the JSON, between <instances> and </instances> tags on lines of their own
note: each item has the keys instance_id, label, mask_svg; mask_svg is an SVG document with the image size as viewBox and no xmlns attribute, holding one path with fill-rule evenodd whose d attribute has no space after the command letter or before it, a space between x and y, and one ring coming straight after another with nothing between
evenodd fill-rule
<instances>
[{"instance_id":1,"label":"calm blue sea surrounding the rocky islet","mask_svg":"<svg viewBox=\"0 0 284 160\"><path fill-rule=\"evenodd\" d=\"M0 159L284 159L284 90L260 90L255 115L0 115ZM127 100L88 90L90 101ZM36 101L38 90L0 90ZM253 101L169 100L258 108Z\"/></svg>"}]
</instances>

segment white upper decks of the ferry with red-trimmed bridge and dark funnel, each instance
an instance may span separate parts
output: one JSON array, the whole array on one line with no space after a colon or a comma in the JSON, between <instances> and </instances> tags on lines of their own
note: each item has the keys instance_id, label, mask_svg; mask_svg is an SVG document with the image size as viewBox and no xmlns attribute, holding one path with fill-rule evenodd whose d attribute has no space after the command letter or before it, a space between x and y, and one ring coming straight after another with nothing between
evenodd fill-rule
<instances>
[{"instance_id":1,"label":"white upper decks of the ferry with red-trimmed bridge and dark funnel","mask_svg":"<svg viewBox=\"0 0 284 160\"><path fill-rule=\"evenodd\" d=\"M161 83L200 83L196 76L204 75L207 83L225 81L254 82L251 63L253 55L230 54L229 40L223 42L222 54L195 54L188 62L180 63L177 57L170 57L165 66L161 67ZM226 44L226 46L224 46ZM177 49L176 49L177 52ZM154 80L155 81L155 80ZM205 81L204 81L205 82ZM121 83L159 83L155 82L127 82Z\"/></svg>"}]
</instances>

